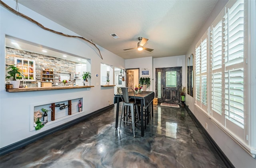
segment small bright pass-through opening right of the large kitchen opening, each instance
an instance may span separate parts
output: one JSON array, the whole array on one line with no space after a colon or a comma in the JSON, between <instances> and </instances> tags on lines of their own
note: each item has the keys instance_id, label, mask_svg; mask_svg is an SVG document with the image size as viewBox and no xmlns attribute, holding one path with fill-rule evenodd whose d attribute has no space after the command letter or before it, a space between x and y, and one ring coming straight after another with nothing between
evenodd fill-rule
<instances>
[{"instance_id":1,"label":"small bright pass-through opening right of the large kitchen opening","mask_svg":"<svg viewBox=\"0 0 256 168\"><path fill-rule=\"evenodd\" d=\"M106 64L100 64L100 85L106 85L108 80L109 84L112 85L113 81L113 66Z\"/></svg>"}]
</instances>

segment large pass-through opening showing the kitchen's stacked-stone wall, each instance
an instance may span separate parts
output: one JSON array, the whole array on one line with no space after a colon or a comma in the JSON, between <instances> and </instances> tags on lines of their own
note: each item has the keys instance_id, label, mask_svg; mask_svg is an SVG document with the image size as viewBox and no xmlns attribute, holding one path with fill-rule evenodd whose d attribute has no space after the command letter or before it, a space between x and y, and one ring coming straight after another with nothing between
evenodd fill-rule
<instances>
[{"instance_id":1,"label":"large pass-through opening showing the kitchen's stacked-stone wall","mask_svg":"<svg viewBox=\"0 0 256 168\"><path fill-rule=\"evenodd\" d=\"M74 54L62 52L60 50L55 50L53 48L6 35L6 65L15 64L15 57L18 60L17 63L21 64L22 61L25 63L23 63L22 66L26 66L26 60L28 60L28 79L26 80L26 85L29 88L38 87L38 82L42 82L41 74L44 69L52 69L54 72L52 86L62 86L61 82L64 79L70 80L68 85L74 85L74 83L76 84L78 82L75 78L77 64L86 65L86 70L83 71L90 71L91 68L90 59L81 58ZM33 73L32 66L34 67ZM66 79L65 75L60 76L61 73L69 74L69 77ZM32 76L33 74L34 76ZM7 75L6 70L6 76ZM6 82L8 83L8 79ZM82 86L82 84L78 84L78 86Z\"/></svg>"}]
</instances>

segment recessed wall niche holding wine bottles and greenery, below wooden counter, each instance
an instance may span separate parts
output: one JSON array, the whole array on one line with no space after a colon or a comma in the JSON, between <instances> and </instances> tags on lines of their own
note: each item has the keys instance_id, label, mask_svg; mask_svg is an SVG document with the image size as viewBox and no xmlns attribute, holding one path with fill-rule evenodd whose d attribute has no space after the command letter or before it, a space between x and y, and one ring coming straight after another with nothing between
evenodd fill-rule
<instances>
[{"instance_id":1,"label":"recessed wall niche holding wine bottles and greenery, below wooden counter","mask_svg":"<svg viewBox=\"0 0 256 168\"><path fill-rule=\"evenodd\" d=\"M34 106L34 120L31 131L36 128L39 130L38 128L40 128L40 126L43 128L44 126L59 122L80 112L83 112L83 98ZM40 123L38 122L38 119Z\"/></svg>"}]
</instances>

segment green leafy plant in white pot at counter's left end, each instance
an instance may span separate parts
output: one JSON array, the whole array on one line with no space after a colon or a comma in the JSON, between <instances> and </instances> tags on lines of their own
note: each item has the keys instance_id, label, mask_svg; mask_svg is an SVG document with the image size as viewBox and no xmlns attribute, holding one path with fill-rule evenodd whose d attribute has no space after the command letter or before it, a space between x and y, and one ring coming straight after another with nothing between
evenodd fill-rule
<instances>
[{"instance_id":1,"label":"green leafy plant in white pot at counter's left end","mask_svg":"<svg viewBox=\"0 0 256 168\"><path fill-rule=\"evenodd\" d=\"M7 72L8 76L6 76L6 78L7 79L12 78L12 80L10 80L10 84L13 85L13 88L19 88L20 80L16 80L16 79L24 78L23 72L19 68L17 68L15 65L9 65L7 70L9 71Z\"/></svg>"}]
</instances>

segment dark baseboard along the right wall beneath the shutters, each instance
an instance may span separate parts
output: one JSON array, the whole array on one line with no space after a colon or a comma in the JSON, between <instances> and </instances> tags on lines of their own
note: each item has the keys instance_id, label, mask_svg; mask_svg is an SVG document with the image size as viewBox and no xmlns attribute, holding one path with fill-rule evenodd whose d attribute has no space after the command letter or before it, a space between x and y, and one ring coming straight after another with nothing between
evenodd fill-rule
<instances>
[{"instance_id":1,"label":"dark baseboard along the right wall beneath the shutters","mask_svg":"<svg viewBox=\"0 0 256 168\"><path fill-rule=\"evenodd\" d=\"M230 160L228 159L228 157L224 154L224 152L222 152L222 150L220 149L220 147L216 144L216 142L212 139L212 137L210 136L210 134L205 130L205 128L202 126L202 124L198 121L198 119L196 118L196 116L190 111L190 109L188 108L188 106L186 104L184 104L188 114L190 115L190 117L193 119L194 123L196 124L196 126L201 130L202 134L205 136L206 140L208 140L208 142L212 145L212 147L214 148L215 152L220 156L221 160L224 162L224 164L228 167L228 168L235 168L235 166L232 164L232 162L230 162Z\"/></svg>"}]
</instances>

